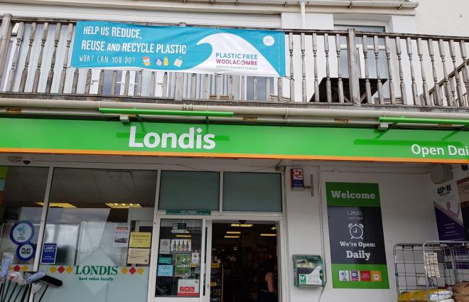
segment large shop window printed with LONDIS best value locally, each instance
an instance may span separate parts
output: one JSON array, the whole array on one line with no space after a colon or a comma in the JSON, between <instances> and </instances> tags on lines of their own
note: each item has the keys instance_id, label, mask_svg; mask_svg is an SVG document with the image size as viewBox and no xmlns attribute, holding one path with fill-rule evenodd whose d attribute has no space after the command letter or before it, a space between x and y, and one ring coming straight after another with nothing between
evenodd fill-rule
<instances>
[{"instance_id":1,"label":"large shop window printed with LONDIS best value locally","mask_svg":"<svg viewBox=\"0 0 469 302\"><path fill-rule=\"evenodd\" d=\"M156 171L56 168L40 269L43 301L147 301Z\"/></svg>"}]
</instances>

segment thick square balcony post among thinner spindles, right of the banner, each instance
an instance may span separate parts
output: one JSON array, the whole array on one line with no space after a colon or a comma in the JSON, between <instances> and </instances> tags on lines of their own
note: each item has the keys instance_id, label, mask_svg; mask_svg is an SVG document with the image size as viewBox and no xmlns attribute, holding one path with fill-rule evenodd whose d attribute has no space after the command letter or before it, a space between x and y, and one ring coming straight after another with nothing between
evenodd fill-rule
<instances>
[{"instance_id":1,"label":"thick square balcony post among thinner spindles, right of the banner","mask_svg":"<svg viewBox=\"0 0 469 302\"><path fill-rule=\"evenodd\" d=\"M355 41L355 28L349 28L347 34L348 53L348 85L350 90L350 100L353 104L360 106L360 65L357 61L357 43Z\"/></svg>"}]
</instances>

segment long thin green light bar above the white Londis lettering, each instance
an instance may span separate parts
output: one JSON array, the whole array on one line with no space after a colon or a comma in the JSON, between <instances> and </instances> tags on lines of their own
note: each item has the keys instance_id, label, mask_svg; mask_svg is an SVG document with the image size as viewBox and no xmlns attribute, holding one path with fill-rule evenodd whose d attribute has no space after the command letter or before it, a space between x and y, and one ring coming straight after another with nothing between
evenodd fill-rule
<instances>
[{"instance_id":1,"label":"long thin green light bar above the white Londis lettering","mask_svg":"<svg viewBox=\"0 0 469 302\"><path fill-rule=\"evenodd\" d=\"M185 115L192 117L233 117L233 112L224 111L189 111L189 110L156 110L156 109L123 109L123 108L99 108L101 113L114 114L149 114L149 115Z\"/></svg>"}]
</instances>

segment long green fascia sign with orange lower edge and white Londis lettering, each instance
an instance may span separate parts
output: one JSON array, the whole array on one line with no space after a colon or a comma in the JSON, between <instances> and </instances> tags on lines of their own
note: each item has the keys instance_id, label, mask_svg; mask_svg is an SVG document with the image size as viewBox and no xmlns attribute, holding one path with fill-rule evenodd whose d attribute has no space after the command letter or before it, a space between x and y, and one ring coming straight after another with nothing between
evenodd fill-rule
<instances>
[{"instance_id":1,"label":"long green fascia sign with orange lower edge and white Londis lettering","mask_svg":"<svg viewBox=\"0 0 469 302\"><path fill-rule=\"evenodd\" d=\"M0 118L0 152L469 163L469 131Z\"/></svg>"}]
</instances>

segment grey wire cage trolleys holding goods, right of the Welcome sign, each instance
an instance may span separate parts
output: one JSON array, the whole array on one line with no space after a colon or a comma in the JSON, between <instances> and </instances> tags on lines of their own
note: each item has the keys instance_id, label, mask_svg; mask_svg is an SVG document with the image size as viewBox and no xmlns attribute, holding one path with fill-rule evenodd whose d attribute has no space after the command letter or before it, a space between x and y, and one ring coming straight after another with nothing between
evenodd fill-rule
<instances>
[{"instance_id":1,"label":"grey wire cage trolleys holding goods, right of the Welcome sign","mask_svg":"<svg viewBox=\"0 0 469 302\"><path fill-rule=\"evenodd\" d=\"M469 302L469 242L396 244L399 302Z\"/></svg>"}]
</instances>

